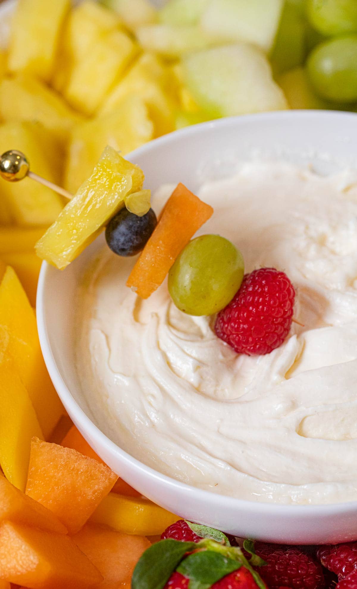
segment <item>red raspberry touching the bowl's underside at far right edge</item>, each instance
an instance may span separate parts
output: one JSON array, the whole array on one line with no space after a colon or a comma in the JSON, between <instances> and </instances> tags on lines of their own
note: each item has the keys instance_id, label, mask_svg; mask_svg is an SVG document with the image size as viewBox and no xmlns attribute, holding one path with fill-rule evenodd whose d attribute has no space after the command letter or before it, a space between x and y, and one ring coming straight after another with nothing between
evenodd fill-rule
<instances>
[{"instance_id":1,"label":"red raspberry touching the bowl's underside at far right edge","mask_svg":"<svg viewBox=\"0 0 357 589\"><path fill-rule=\"evenodd\" d=\"M320 546L317 550L317 558L320 559L323 567L342 580L357 568L357 542Z\"/></svg>"}]
</instances>

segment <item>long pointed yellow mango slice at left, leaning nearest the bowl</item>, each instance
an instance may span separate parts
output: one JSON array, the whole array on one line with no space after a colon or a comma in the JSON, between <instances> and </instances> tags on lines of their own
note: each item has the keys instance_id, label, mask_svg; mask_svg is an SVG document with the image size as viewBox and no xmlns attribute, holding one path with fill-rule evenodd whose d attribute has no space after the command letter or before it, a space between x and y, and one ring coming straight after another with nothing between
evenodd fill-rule
<instances>
[{"instance_id":1,"label":"long pointed yellow mango slice at left, leaning nearest the bowl","mask_svg":"<svg viewBox=\"0 0 357 589\"><path fill-rule=\"evenodd\" d=\"M0 283L0 326L0 353L14 363L48 438L64 409L42 358L34 309L10 266Z\"/></svg>"}]
</instances>

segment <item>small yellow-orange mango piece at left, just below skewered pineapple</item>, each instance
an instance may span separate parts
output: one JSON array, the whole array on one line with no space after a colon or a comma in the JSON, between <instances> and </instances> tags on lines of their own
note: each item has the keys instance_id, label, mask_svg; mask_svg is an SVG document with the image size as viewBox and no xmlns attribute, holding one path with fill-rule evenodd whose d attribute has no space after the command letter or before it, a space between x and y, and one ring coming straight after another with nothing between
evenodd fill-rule
<instances>
[{"instance_id":1,"label":"small yellow-orange mango piece at left, just below skewered pineapple","mask_svg":"<svg viewBox=\"0 0 357 589\"><path fill-rule=\"evenodd\" d=\"M41 269L41 260L35 252L15 252L0 254L6 265L14 268L24 287L30 305L36 306L36 292L38 275Z\"/></svg>"}]
</instances>

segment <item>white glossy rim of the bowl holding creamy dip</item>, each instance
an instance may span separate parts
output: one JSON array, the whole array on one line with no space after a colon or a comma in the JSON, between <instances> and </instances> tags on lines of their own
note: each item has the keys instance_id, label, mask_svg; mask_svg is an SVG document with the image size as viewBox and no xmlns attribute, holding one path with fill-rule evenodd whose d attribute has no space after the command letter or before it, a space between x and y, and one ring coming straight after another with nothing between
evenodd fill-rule
<instances>
[{"instance_id":1,"label":"white glossy rim of the bowl holding creamy dip","mask_svg":"<svg viewBox=\"0 0 357 589\"><path fill-rule=\"evenodd\" d=\"M172 133L149 141L129 154L126 154L125 157L129 160L134 160L135 163L135 159L137 157L145 155L145 153L152 150L152 148L155 148L157 145L169 145L174 142L177 137L190 137L191 135L195 135L197 133L208 132L215 127L229 127L232 124L237 124L238 121L241 121L242 123L249 123L249 121L260 120L263 122L266 120L289 120L292 118L304 120L309 120L311 118L320 118L321 120L324 118L354 118L356 121L357 113L326 110L290 110L226 117L214 121L207 121L205 123L191 125L190 127L173 131ZM237 497L230 497L229 495L221 495L212 491L208 491L207 489L194 487L193 485L189 485L185 482L169 477L168 475L162 474L161 472L156 471L143 462L140 462L138 459L134 458L128 452L120 448L119 445L115 444L110 438L103 434L103 432L101 432L101 430L93 423L93 421L91 421L89 416L86 415L83 409L81 409L77 401L71 395L67 385L65 385L65 382L61 377L60 371L58 370L55 363L53 352L50 346L44 314L44 290L49 270L53 270L53 267L50 266L50 264L47 262L42 262L40 276L38 279L36 301L38 335L40 338L40 345L42 355L44 356L45 365L47 366L48 373L50 374L50 378L55 386L58 396L60 396L60 399L63 401L65 407L69 408L68 412L76 415L78 422L80 422L81 426L83 427L83 430L89 432L91 438L99 440L101 445L106 446L110 454L120 456L122 461L125 461L128 465L130 464L135 466L136 471L141 471L152 480L156 479L161 481L162 484L165 484L166 487L170 487L172 490L178 489L182 494L186 494L187 497L192 496L193 494L195 494L197 497L199 495L202 498L202 501L207 499L207 501L209 501L211 504L220 505L220 507L224 507L225 509L244 509L246 512L254 513L255 517L259 514L262 516L266 514L276 515L277 517L291 517L292 515L296 515L299 518L307 519L310 518L312 509L314 511L314 515L317 516L323 516L327 514L339 515L342 513L346 514L357 511L357 499L356 501L327 504L280 504L276 502L270 503L264 501L250 501L249 499L240 499ZM58 272L60 272L60 270L58 270ZM296 485L296 487L299 486L300 485Z\"/></svg>"}]
</instances>

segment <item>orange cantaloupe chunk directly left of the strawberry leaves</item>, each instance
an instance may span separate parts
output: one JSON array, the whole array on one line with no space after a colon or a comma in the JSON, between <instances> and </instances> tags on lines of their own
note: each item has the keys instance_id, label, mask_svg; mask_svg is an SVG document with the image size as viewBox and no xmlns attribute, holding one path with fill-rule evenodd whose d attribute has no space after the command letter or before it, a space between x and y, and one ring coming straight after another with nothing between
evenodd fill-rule
<instances>
[{"instance_id":1,"label":"orange cantaloupe chunk directly left of the strawberry leaves","mask_svg":"<svg viewBox=\"0 0 357 589\"><path fill-rule=\"evenodd\" d=\"M86 524L72 540L104 577L100 589L117 589L127 583L137 561L150 542L144 536L132 536L99 525Z\"/></svg>"}]
</instances>

